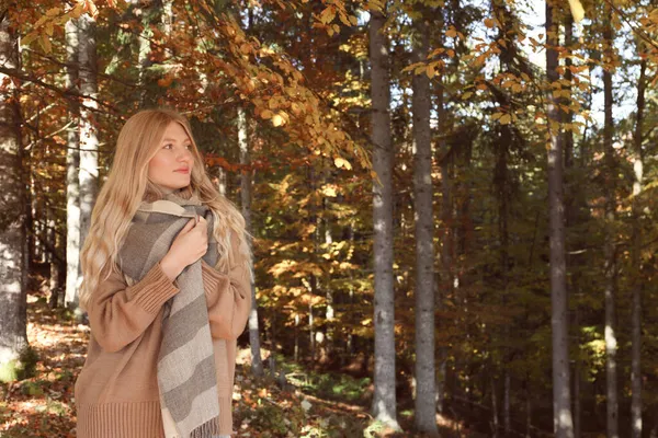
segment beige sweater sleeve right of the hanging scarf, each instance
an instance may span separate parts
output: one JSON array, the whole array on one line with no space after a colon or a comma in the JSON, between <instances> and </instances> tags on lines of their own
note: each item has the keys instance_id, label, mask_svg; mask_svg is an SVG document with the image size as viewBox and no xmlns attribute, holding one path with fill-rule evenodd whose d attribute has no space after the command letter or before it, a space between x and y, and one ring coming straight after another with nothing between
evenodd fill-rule
<instances>
[{"instance_id":1,"label":"beige sweater sleeve right of the hanging scarf","mask_svg":"<svg viewBox=\"0 0 658 438\"><path fill-rule=\"evenodd\" d=\"M202 260L202 275L212 336L236 339L245 331L251 310L249 267L240 263L222 274Z\"/></svg>"}]
</instances>

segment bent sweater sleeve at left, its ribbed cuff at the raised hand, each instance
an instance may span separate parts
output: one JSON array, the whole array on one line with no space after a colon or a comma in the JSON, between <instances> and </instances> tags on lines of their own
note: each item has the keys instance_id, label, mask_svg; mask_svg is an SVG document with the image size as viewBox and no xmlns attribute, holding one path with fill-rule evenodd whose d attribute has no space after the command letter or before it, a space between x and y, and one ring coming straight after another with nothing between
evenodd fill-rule
<instances>
[{"instance_id":1,"label":"bent sweater sleeve at left, its ribbed cuff at the raised hand","mask_svg":"<svg viewBox=\"0 0 658 438\"><path fill-rule=\"evenodd\" d=\"M117 273L102 278L90 299L89 324L94 338L110 353L139 337L162 304L179 292L159 263L133 286Z\"/></svg>"}]
</instances>

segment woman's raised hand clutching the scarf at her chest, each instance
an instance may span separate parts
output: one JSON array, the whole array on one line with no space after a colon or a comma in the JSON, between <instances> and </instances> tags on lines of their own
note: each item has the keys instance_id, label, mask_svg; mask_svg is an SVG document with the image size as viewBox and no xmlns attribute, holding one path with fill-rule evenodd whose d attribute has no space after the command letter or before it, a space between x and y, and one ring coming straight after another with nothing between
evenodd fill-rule
<instances>
[{"instance_id":1,"label":"woman's raised hand clutching the scarf at her chest","mask_svg":"<svg viewBox=\"0 0 658 438\"><path fill-rule=\"evenodd\" d=\"M194 219L190 219L185 227L179 232L169 252L160 261L162 272L174 280L183 269L203 257L208 250L208 222L203 217L198 217L195 224Z\"/></svg>"}]
</instances>

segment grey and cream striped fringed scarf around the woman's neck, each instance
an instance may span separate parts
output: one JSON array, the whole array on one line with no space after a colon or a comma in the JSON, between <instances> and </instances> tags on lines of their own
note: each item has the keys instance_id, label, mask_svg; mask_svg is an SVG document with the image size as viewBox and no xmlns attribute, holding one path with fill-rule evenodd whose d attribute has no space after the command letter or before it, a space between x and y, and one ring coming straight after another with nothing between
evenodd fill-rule
<instances>
[{"instance_id":1,"label":"grey and cream striped fringed scarf around the woman's neck","mask_svg":"<svg viewBox=\"0 0 658 438\"><path fill-rule=\"evenodd\" d=\"M170 194L139 206L118 254L122 272L139 281L194 215L207 220L208 251L203 260L215 266L218 253L212 211L196 196L183 199ZM201 260L185 267L177 283L180 292L164 304L158 356L162 416L173 419L180 437L211 437L219 434L219 402Z\"/></svg>"}]
</instances>

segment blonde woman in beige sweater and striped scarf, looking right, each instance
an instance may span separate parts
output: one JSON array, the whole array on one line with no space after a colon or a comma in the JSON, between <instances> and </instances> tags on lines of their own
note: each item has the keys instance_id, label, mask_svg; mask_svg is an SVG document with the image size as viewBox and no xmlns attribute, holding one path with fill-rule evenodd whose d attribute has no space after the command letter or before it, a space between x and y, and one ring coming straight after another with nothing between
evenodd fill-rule
<instances>
[{"instance_id":1,"label":"blonde woman in beige sweater and striped scarf, looking right","mask_svg":"<svg viewBox=\"0 0 658 438\"><path fill-rule=\"evenodd\" d=\"M135 114L81 252L91 337L79 438L228 437L251 306L245 219L205 173L188 120Z\"/></svg>"}]
</instances>

